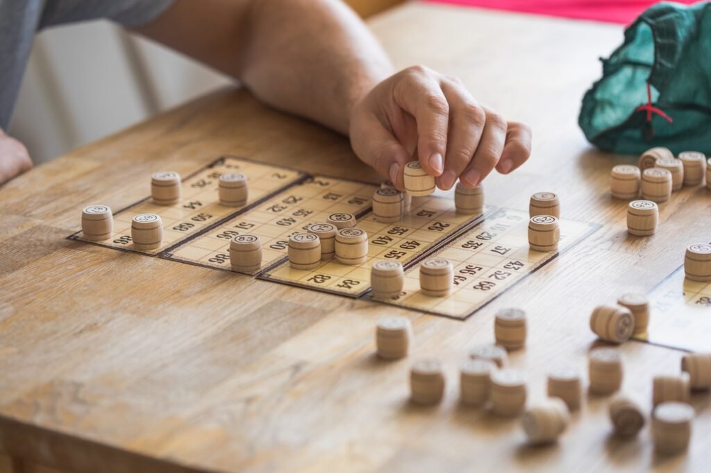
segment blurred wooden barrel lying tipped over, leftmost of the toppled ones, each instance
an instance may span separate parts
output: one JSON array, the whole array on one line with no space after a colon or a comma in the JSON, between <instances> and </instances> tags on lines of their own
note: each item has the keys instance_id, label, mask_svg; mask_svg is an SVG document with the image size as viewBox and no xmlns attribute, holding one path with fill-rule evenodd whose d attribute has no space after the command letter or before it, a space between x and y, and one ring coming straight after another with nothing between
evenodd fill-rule
<instances>
[{"instance_id":1,"label":"blurred wooden barrel lying tipped over, leftmost of the toppled ones","mask_svg":"<svg viewBox=\"0 0 711 473\"><path fill-rule=\"evenodd\" d=\"M568 407L559 398L549 398L528 409L521 418L531 445L555 442L570 422Z\"/></svg>"}]
</instances>

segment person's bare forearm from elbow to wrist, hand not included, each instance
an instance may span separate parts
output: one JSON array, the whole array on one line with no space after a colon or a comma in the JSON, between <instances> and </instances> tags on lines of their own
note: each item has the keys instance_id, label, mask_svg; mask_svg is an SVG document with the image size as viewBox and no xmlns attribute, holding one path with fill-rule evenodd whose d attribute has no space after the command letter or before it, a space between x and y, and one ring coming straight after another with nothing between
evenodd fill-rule
<instances>
[{"instance_id":1,"label":"person's bare forearm from elbow to wrist, hand not included","mask_svg":"<svg viewBox=\"0 0 711 473\"><path fill-rule=\"evenodd\" d=\"M274 107L346 134L353 104L392 74L360 18L338 0L257 0L242 79Z\"/></svg>"}]
</instances>

